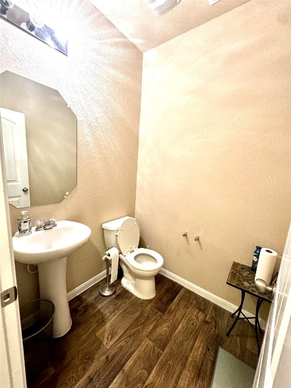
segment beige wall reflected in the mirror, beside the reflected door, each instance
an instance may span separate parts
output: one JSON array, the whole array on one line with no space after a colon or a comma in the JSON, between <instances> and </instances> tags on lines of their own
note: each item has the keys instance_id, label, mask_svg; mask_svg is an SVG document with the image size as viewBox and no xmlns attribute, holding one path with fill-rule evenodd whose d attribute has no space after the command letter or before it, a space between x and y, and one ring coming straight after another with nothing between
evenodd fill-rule
<instances>
[{"instance_id":1,"label":"beige wall reflected in the mirror, beside the reflected door","mask_svg":"<svg viewBox=\"0 0 291 388\"><path fill-rule=\"evenodd\" d=\"M62 202L76 185L76 116L56 89L9 71L0 85L1 107L25 114L30 205Z\"/></svg>"}]
</instances>

